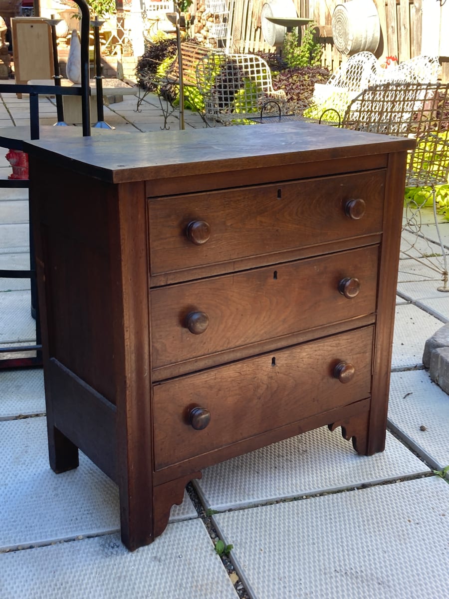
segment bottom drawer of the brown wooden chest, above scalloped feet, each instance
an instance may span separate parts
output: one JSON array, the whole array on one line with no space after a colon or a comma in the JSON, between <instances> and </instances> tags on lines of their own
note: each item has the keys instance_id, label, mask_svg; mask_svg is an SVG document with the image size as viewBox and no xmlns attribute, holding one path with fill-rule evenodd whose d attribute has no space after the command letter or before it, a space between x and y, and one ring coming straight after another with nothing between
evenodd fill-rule
<instances>
[{"instance_id":1,"label":"bottom drawer of the brown wooden chest, above scalloped feet","mask_svg":"<svg viewBox=\"0 0 449 599\"><path fill-rule=\"evenodd\" d=\"M374 326L154 385L156 470L369 397ZM201 407L207 412L192 410Z\"/></svg>"}]
</instances>

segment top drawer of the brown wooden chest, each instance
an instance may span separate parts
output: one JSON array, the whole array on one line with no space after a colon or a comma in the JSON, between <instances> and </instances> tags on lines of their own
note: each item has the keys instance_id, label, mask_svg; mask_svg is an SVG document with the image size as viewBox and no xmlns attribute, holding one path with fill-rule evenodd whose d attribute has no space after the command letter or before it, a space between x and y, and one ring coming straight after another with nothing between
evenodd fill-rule
<instances>
[{"instance_id":1,"label":"top drawer of the brown wooden chest","mask_svg":"<svg viewBox=\"0 0 449 599\"><path fill-rule=\"evenodd\" d=\"M384 180L380 170L151 199L151 275L380 232Z\"/></svg>"}]
</instances>

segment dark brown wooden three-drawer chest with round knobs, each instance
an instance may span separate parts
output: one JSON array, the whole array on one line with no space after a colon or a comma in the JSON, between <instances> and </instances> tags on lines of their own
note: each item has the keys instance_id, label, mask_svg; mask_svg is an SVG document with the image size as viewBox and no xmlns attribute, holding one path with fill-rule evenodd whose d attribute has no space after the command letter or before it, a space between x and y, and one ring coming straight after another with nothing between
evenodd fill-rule
<instances>
[{"instance_id":1,"label":"dark brown wooden three-drawer chest with round knobs","mask_svg":"<svg viewBox=\"0 0 449 599\"><path fill-rule=\"evenodd\" d=\"M286 123L28 145L50 464L80 448L116 480L129 549L223 459L323 425L383 450L412 144Z\"/></svg>"}]
</instances>

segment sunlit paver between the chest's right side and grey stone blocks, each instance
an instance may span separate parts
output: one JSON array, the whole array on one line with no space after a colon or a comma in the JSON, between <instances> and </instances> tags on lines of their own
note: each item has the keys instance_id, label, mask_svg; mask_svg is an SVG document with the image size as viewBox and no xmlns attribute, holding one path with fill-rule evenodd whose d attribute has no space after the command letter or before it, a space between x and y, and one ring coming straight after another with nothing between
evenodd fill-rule
<instances>
[{"instance_id":1,"label":"sunlit paver between the chest's right side and grey stone blocks","mask_svg":"<svg viewBox=\"0 0 449 599\"><path fill-rule=\"evenodd\" d=\"M413 368L421 365L426 340L441 326L441 320L415 305L396 306L392 368Z\"/></svg>"}]
</instances>

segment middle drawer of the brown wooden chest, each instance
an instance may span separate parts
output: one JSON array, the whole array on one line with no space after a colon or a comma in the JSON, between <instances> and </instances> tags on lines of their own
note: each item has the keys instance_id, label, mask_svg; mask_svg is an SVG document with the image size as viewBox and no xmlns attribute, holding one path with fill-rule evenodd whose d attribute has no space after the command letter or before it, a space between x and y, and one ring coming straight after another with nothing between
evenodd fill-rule
<instances>
[{"instance_id":1,"label":"middle drawer of the brown wooden chest","mask_svg":"<svg viewBox=\"0 0 449 599\"><path fill-rule=\"evenodd\" d=\"M377 264L369 246L151 289L152 367L371 314Z\"/></svg>"}]
</instances>

